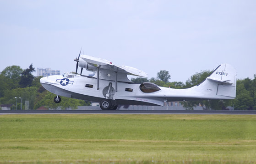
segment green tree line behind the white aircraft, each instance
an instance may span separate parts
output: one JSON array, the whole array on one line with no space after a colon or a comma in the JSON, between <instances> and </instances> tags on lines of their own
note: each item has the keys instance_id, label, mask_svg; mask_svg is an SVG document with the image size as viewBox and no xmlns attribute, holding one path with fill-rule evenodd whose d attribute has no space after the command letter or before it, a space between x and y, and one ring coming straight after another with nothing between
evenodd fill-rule
<instances>
[{"instance_id":1,"label":"green tree line behind the white aircraft","mask_svg":"<svg viewBox=\"0 0 256 164\"><path fill-rule=\"evenodd\" d=\"M25 101L29 101L29 109L37 109L41 106L51 109L76 109L77 106L90 105L90 102L62 97L59 104L54 103L53 93L48 92L40 83L41 77L34 77L35 68L31 64L27 69L22 70L19 66L6 67L0 73L0 104L12 104L11 109L25 109ZM185 83L169 82L171 75L168 71L161 70L157 77L150 79L144 77L131 78L132 82L153 82L161 87L183 89L193 87L208 77L212 71L205 70L192 75ZM15 98L16 97L16 98ZM22 98L21 100L18 97ZM16 106L17 102L17 106ZM254 79L245 78L237 80L236 98L233 100L201 100L182 102L186 109L193 109L201 105L204 110L224 110L227 107L234 107L235 110L256 110L256 74Z\"/></svg>"}]
</instances>

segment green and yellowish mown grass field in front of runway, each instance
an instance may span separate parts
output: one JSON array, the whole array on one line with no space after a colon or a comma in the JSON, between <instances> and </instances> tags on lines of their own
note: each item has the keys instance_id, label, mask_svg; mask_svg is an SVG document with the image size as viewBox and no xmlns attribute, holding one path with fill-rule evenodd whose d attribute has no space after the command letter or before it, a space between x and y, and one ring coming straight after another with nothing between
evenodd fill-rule
<instances>
[{"instance_id":1,"label":"green and yellowish mown grass field in front of runway","mask_svg":"<svg viewBox=\"0 0 256 164\"><path fill-rule=\"evenodd\" d=\"M0 164L256 163L255 115L0 115Z\"/></svg>"}]
</instances>

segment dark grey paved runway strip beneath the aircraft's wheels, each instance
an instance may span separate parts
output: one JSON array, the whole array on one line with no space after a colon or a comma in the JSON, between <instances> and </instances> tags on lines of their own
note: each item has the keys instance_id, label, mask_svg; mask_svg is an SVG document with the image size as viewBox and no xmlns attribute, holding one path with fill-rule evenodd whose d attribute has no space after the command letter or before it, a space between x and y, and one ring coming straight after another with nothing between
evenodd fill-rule
<instances>
[{"instance_id":1,"label":"dark grey paved runway strip beneath the aircraft's wheels","mask_svg":"<svg viewBox=\"0 0 256 164\"><path fill-rule=\"evenodd\" d=\"M0 114L256 114L226 110L0 110Z\"/></svg>"}]
</instances>

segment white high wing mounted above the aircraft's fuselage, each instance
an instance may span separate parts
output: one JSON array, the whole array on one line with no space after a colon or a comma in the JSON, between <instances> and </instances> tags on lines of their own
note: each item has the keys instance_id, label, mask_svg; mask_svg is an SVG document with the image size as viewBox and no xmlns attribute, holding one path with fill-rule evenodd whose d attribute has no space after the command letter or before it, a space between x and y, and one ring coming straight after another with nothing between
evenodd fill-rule
<instances>
[{"instance_id":1,"label":"white high wing mounted above the aircraft's fuselage","mask_svg":"<svg viewBox=\"0 0 256 164\"><path fill-rule=\"evenodd\" d=\"M147 73L133 68L129 66L116 66L112 64L112 62L109 62L106 59L101 59L98 57L88 56L88 55L81 55L81 58L83 61L87 62L89 65L98 67L101 69L106 69L114 72L120 72L120 73L127 73L129 75L139 76L139 77L147 77Z\"/></svg>"}]
</instances>

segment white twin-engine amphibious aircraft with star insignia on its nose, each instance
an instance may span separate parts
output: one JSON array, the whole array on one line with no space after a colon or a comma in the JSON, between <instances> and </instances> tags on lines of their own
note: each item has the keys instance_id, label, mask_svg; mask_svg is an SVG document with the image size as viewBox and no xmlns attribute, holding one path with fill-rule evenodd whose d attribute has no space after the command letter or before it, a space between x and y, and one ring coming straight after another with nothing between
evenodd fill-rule
<instances>
[{"instance_id":1,"label":"white twin-engine amphibious aircraft with star insignia on its nose","mask_svg":"<svg viewBox=\"0 0 256 164\"><path fill-rule=\"evenodd\" d=\"M116 109L118 104L163 106L164 102L235 98L236 70L229 64L219 65L197 86L173 89L151 82L131 82L127 75L147 77L147 74L133 67L116 66L105 59L80 54L74 59L76 74L64 73L40 79L45 89L57 95L55 103L60 103L60 96L65 96L99 102L101 109ZM78 66L81 75L77 75ZM83 68L95 74L84 76Z\"/></svg>"}]
</instances>

